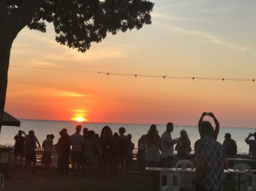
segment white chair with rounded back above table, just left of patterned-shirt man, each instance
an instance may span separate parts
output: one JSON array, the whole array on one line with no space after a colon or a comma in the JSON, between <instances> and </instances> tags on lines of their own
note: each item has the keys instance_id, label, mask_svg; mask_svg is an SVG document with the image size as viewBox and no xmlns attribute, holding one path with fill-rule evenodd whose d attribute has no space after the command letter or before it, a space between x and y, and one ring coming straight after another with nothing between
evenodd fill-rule
<instances>
[{"instance_id":1,"label":"white chair with rounded back above table, just left of patterned-shirt man","mask_svg":"<svg viewBox=\"0 0 256 191\"><path fill-rule=\"evenodd\" d=\"M177 161L175 168L181 168L182 170L186 170L189 167L191 168L191 170L193 170L194 168L194 163L190 160L180 160ZM180 187L182 188L189 188L191 186L191 181L192 178L194 177L194 175L191 172L180 172L180 180L181 180L181 184Z\"/></svg>"}]
</instances>

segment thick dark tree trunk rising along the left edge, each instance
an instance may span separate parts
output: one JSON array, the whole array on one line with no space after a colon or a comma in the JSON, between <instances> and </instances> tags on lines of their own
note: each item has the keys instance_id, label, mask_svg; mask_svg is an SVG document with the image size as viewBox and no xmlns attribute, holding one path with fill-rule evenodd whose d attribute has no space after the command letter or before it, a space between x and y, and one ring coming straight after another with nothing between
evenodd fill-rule
<instances>
[{"instance_id":1,"label":"thick dark tree trunk rising along the left edge","mask_svg":"<svg viewBox=\"0 0 256 191\"><path fill-rule=\"evenodd\" d=\"M43 0L22 0L19 9L7 13L6 0L0 0L0 133L7 92L10 49L18 33L30 23Z\"/></svg>"}]
</instances>

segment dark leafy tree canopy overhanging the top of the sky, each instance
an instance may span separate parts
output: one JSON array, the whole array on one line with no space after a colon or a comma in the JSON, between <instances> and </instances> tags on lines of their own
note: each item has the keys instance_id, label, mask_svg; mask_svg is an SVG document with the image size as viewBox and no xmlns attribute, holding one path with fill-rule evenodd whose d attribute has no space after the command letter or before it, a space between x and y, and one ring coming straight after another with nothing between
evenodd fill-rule
<instances>
[{"instance_id":1,"label":"dark leafy tree canopy overhanging the top of the sky","mask_svg":"<svg viewBox=\"0 0 256 191\"><path fill-rule=\"evenodd\" d=\"M20 4L22 0L7 0L8 13L11 15ZM45 33L45 23L53 23L56 41L85 52L91 42L102 41L107 33L151 24L153 7L145 0L45 0L27 26Z\"/></svg>"}]
</instances>

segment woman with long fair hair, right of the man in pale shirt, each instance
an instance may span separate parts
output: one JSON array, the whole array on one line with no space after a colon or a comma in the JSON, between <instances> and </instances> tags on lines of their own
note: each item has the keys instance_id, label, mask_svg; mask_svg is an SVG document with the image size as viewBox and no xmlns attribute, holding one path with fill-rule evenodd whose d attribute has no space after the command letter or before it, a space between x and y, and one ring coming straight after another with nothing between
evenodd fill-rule
<instances>
[{"instance_id":1,"label":"woman with long fair hair, right of the man in pale shirt","mask_svg":"<svg viewBox=\"0 0 256 191\"><path fill-rule=\"evenodd\" d=\"M188 133L186 130L180 131L180 138L177 140L175 150L177 150L177 156L179 160L189 159L191 152L191 141L188 138Z\"/></svg>"}]
</instances>

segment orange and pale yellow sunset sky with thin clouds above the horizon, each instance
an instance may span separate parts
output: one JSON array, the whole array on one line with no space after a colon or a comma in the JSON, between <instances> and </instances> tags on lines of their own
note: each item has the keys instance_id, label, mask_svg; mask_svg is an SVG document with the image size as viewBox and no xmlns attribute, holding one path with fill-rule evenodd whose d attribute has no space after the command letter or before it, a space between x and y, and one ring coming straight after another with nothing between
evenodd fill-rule
<instances>
[{"instance_id":1,"label":"orange and pale yellow sunset sky with thin clouds above the horizon","mask_svg":"<svg viewBox=\"0 0 256 191\"><path fill-rule=\"evenodd\" d=\"M256 81L85 72L256 78L255 0L153 2L151 25L108 34L86 53L57 44L52 24L47 33L22 30L11 52L5 110L29 119L187 125L206 111L221 126L256 127Z\"/></svg>"}]
</instances>

